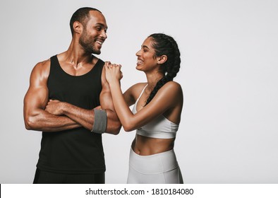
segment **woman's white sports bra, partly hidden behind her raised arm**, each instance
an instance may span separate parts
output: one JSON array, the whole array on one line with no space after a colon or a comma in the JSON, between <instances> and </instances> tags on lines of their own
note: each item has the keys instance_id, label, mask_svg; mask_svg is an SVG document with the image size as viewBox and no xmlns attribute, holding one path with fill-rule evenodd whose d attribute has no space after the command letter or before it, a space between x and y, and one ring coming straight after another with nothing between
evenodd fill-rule
<instances>
[{"instance_id":1,"label":"woman's white sports bra, partly hidden behind her raised arm","mask_svg":"<svg viewBox=\"0 0 278 198\"><path fill-rule=\"evenodd\" d=\"M147 85L143 88L143 91L140 93L138 99L136 100L134 106L133 106L133 114L136 114L137 110L137 103L138 100L141 98L143 92L145 91L145 88ZM171 139L176 137L176 132L179 129L179 124L175 124L174 122L171 122L168 120L164 115L159 115L159 117L155 118L155 120L152 120L151 122L147 123L145 126L140 127L136 130L136 134L139 134L141 136L148 136L152 138L159 138L159 139Z\"/></svg>"}]
</instances>

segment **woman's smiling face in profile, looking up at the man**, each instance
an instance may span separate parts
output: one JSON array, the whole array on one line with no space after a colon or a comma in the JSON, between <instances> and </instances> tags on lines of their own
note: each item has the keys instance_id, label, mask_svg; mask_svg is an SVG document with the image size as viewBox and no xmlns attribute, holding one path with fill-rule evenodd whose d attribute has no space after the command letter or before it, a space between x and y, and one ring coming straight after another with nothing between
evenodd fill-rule
<instances>
[{"instance_id":1,"label":"woman's smiling face in profile, looking up at the man","mask_svg":"<svg viewBox=\"0 0 278 198\"><path fill-rule=\"evenodd\" d=\"M155 49L152 47L152 40L147 37L141 46L141 49L136 53L137 66L140 71L150 71L157 67L157 58L155 57Z\"/></svg>"}]
</instances>

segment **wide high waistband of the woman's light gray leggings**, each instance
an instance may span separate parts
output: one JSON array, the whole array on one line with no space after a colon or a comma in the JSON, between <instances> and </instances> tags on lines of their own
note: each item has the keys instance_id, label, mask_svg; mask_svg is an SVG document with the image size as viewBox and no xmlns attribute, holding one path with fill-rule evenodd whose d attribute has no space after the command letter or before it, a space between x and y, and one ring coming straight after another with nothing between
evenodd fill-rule
<instances>
[{"instance_id":1,"label":"wide high waistband of the woman's light gray leggings","mask_svg":"<svg viewBox=\"0 0 278 198\"><path fill-rule=\"evenodd\" d=\"M132 148L129 155L129 165L143 174L165 173L179 166L173 149L150 156L140 156Z\"/></svg>"}]
</instances>

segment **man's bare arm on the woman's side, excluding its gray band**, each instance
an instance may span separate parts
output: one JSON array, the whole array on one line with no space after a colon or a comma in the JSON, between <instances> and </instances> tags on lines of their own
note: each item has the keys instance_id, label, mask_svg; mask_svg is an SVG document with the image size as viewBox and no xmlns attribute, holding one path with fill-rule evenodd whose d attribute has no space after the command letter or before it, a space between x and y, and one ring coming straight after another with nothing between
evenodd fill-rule
<instances>
[{"instance_id":1,"label":"man's bare arm on the woman's side, excluding its gray band","mask_svg":"<svg viewBox=\"0 0 278 198\"><path fill-rule=\"evenodd\" d=\"M114 110L109 84L106 81L104 69L102 70L102 92L99 95L102 110L107 112L107 130L109 134L119 134L121 122ZM97 107L100 108L100 107ZM92 130L95 122L94 110L85 110L59 100L50 100L46 110L54 115L66 115L86 129Z\"/></svg>"}]
</instances>

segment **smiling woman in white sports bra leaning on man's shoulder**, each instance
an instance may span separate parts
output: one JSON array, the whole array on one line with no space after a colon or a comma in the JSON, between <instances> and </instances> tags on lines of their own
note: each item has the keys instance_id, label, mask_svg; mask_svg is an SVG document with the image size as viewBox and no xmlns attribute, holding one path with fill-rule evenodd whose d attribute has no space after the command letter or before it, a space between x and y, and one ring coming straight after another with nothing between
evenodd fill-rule
<instances>
[{"instance_id":1,"label":"smiling woman in white sports bra leaning on man's shoulder","mask_svg":"<svg viewBox=\"0 0 278 198\"><path fill-rule=\"evenodd\" d=\"M164 34L146 38L136 53L136 69L147 83L137 83L122 94L121 65L105 64L114 107L126 132L136 129L131 144L128 183L183 183L174 153L181 120L183 92L173 78L179 72L176 41ZM133 111L129 106L133 105Z\"/></svg>"}]
</instances>

